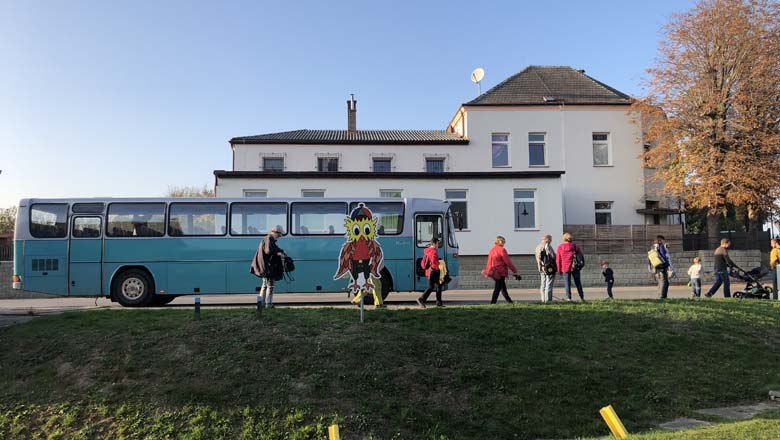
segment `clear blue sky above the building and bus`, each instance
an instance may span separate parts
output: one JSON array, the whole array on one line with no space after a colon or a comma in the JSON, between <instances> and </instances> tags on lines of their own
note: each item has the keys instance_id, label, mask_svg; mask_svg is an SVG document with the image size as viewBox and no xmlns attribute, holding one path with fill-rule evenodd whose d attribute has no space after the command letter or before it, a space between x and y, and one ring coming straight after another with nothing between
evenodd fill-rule
<instances>
[{"instance_id":1,"label":"clear blue sky above the building and bus","mask_svg":"<svg viewBox=\"0 0 780 440\"><path fill-rule=\"evenodd\" d=\"M0 1L0 207L212 185L228 139L443 129L529 64L641 92L692 1Z\"/></svg>"}]
</instances>

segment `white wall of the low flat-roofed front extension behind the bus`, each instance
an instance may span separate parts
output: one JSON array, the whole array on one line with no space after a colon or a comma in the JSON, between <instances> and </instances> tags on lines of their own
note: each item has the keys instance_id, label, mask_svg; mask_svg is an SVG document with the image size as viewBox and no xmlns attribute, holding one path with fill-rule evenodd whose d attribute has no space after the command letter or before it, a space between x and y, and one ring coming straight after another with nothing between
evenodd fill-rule
<instances>
[{"instance_id":1,"label":"white wall of the low flat-roofed front extension behind the bus","mask_svg":"<svg viewBox=\"0 0 780 440\"><path fill-rule=\"evenodd\" d=\"M536 189L534 230L514 229L514 189ZM512 254L530 254L542 233L563 233L561 181L545 179L219 179L218 197L242 197L244 189L265 189L268 197L298 198L301 189L326 189L325 197L379 197L380 189L401 189L404 197L443 199L445 189L468 190L469 231L457 232L463 255L485 255L496 235Z\"/></svg>"}]
</instances>

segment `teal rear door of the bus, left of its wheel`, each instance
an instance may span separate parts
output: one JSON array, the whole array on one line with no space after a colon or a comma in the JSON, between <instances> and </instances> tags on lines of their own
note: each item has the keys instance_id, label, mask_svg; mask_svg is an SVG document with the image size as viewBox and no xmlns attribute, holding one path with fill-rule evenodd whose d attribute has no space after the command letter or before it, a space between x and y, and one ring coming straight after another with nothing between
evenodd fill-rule
<instances>
[{"instance_id":1,"label":"teal rear door of the bus, left of its wheel","mask_svg":"<svg viewBox=\"0 0 780 440\"><path fill-rule=\"evenodd\" d=\"M103 271L103 218L73 217L68 259L68 292L99 295Z\"/></svg>"}]
</instances>

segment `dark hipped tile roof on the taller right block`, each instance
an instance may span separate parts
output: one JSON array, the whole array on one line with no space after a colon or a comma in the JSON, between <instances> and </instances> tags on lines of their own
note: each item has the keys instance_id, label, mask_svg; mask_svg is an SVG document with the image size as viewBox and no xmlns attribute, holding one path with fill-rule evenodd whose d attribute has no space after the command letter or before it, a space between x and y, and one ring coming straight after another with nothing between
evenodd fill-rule
<instances>
[{"instance_id":1,"label":"dark hipped tile roof on the taller right block","mask_svg":"<svg viewBox=\"0 0 780 440\"><path fill-rule=\"evenodd\" d=\"M567 66L529 66L465 105L630 104L631 97Z\"/></svg>"}]
</instances>

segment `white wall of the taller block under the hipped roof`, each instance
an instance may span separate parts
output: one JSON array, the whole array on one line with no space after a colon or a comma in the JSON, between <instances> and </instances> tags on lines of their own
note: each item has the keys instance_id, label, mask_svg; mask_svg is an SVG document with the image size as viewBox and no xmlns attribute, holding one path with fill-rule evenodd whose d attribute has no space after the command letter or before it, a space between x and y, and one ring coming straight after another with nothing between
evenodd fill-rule
<instances>
[{"instance_id":1,"label":"white wall of the taller block under the hipped roof","mask_svg":"<svg viewBox=\"0 0 780 440\"><path fill-rule=\"evenodd\" d=\"M528 166L528 133L547 133L547 164L563 170L566 224L593 224L594 202L611 201L612 223L643 224L636 210L644 208L641 132L626 106L511 107L468 109L471 161L489 167L491 133L510 133L512 170ZM594 132L608 132L612 166L593 166Z\"/></svg>"}]
</instances>

